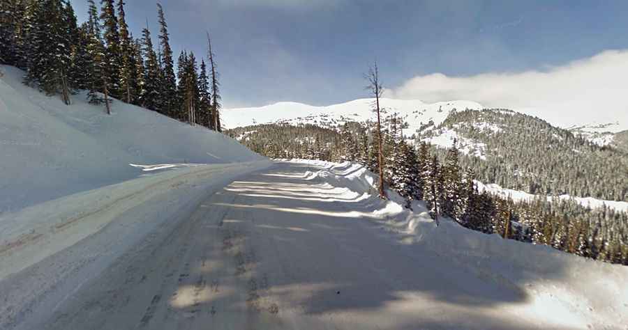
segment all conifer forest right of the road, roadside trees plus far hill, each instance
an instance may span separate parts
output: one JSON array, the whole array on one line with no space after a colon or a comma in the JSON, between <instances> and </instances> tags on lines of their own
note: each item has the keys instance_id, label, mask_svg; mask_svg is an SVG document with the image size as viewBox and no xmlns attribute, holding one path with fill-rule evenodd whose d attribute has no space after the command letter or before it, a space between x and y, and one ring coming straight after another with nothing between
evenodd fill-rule
<instances>
[{"instance_id":1,"label":"all conifer forest right of the road, roadside trees plus far hill","mask_svg":"<svg viewBox=\"0 0 628 330\"><path fill-rule=\"evenodd\" d=\"M415 145L401 136L404 126L389 118L382 146L384 180L408 205L423 200L435 219L444 215L483 233L628 265L628 214L545 196L625 198L625 153L507 110L453 111L438 127L426 127ZM377 173L377 134L367 125L253 125L228 134L268 157L350 160ZM479 191L475 180L539 198L513 201Z\"/></svg>"}]
</instances>

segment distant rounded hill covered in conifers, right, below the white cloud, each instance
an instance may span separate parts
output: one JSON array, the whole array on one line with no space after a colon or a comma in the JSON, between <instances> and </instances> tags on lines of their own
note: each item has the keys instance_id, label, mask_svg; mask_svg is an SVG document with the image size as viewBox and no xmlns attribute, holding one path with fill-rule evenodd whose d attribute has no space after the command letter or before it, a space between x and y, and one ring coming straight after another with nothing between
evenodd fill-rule
<instances>
[{"instance_id":1,"label":"distant rounded hill covered in conifers, right, below the white cloud","mask_svg":"<svg viewBox=\"0 0 628 330\"><path fill-rule=\"evenodd\" d=\"M486 159L463 155L482 182L530 194L628 201L628 154L600 147L536 117L502 109L456 111L420 139L454 130L484 143Z\"/></svg>"}]
</instances>

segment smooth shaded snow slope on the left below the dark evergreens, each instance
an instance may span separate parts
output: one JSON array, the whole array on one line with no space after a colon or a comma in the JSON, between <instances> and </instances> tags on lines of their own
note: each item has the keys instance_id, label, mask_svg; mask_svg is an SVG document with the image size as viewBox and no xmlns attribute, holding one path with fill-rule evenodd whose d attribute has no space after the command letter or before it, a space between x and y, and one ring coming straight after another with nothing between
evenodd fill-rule
<instances>
[{"instance_id":1,"label":"smooth shaded snow slope on the left below the dark evergreens","mask_svg":"<svg viewBox=\"0 0 628 330\"><path fill-rule=\"evenodd\" d=\"M66 106L24 86L21 70L0 70L0 214L148 169L263 159L223 134L123 102L113 102L111 116L84 93Z\"/></svg>"}]
</instances>

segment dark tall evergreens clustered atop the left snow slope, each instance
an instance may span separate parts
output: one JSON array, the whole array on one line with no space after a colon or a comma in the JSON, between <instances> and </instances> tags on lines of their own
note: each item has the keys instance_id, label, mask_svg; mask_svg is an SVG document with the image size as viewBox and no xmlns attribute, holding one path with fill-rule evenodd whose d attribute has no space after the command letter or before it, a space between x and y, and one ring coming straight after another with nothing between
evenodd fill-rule
<instances>
[{"instance_id":1,"label":"dark tall evergreens clustered atop the left snow slope","mask_svg":"<svg viewBox=\"0 0 628 330\"><path fill-rule=\"evenodd\" d=\"M124 1L94 0L87 22L77 24L67 0L0 1L0 63L26 71L24 84L47 95L87 90L89 102L111 97L151 109L192 125L220 127L218 72L208 39L207 63L181 52L174 71L170 35L163 8L157 4L158 52L148 26L134 38L126 24Z\"/></svg>"}]
</instances>

